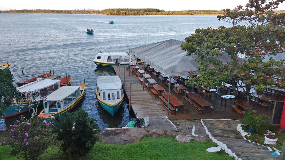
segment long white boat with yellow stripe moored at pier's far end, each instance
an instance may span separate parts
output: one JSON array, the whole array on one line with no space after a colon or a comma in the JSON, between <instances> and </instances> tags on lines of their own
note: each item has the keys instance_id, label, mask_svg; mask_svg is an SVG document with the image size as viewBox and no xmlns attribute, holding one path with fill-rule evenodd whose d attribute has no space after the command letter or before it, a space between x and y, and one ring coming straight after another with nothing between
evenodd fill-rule
<instances>
[{"instance_id":1,"label":"long white boat with yellow stripe moored at pier's far end","mask_svg":"<svg viewBox=\"0 0 285 160\"><path fill-rule=\"evenodd\" d=\"M129 57L131 58L129 60ZM139 65L143 64L144 62L140 59L135 59L135 57L132 57L127 52L105 52L105 53L97 53L95 59L93 62L97 66L107 66L112 67L113 65L117 65L120 63L120 65L129 65L129 62L131 64L134 64L134 61L137 61Z\"/></svg>"}]
</instances>

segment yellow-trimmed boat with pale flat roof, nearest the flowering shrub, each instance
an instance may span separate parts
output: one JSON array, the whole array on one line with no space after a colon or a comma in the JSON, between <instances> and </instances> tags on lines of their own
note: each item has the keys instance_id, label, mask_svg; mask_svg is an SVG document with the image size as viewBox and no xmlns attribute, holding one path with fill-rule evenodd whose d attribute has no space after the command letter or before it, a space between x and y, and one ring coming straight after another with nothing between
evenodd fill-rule
<instances>
[{"instance_id":1,"label":"yellow-trimmed boat with pale flat roof, nearest the flowering shrub","mask_svg":"<svg viewBox=\"0 0 285 160\"><path fill-rule=\"evenodd\" d=\"M85 92L85 82L78 86L63 86L51 93L44 100L44 109L38 117L57 118L61 114L72 110L82 99Z\"/></svg>"}]
</instances>

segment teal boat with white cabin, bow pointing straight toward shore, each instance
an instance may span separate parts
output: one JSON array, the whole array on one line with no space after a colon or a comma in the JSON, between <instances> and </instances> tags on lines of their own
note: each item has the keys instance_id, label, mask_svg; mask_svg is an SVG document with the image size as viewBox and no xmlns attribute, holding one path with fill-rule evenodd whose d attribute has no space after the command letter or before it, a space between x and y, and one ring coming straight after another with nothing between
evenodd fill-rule
<instances>
[{"instance_id":1,"label":"teal boat with white cabin, bow pointing straight toward shore","mask_svg":"<svg viewBox=\"0 0 285 160\"><path fill-rule=\"evenodd\" d=\"M96 97L103 109L114 116L121 107L124 92L119 76L108 75L97 78Z\"/></svg>"}]
</instances>

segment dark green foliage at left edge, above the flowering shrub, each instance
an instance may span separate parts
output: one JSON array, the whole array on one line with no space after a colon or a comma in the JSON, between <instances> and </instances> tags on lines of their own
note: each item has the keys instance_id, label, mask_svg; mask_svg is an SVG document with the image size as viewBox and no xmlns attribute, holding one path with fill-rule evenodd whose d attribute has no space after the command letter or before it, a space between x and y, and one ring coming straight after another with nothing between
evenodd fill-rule
<instances>
[{"instance_id":1,"label":"dark green foliage at left edge, above the flowering shrub","mask_svg":"<svg viewBox=\"0 0 285 160\"><path fill-rule=\"evenodd\" d=\"M3 71L0 69L0 119L3 117L6 108L11 105L12 99L18 95L13 82L13 75L10 70Z\"/></svg>"}]
</instances>

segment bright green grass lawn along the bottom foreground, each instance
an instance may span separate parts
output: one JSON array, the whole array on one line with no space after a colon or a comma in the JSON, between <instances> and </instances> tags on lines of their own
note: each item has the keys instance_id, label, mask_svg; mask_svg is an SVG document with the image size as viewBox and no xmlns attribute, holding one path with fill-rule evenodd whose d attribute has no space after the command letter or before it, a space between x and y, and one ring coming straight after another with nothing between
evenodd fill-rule
<instances>
[{"instance_id":1,"label":"bright green grass lawn along the bottom foreground","mask_svg":"<svg viewBox=\"0 0 285 160\"><path fill-rule=\"evenodd\" d=\"M97 143L86 155L86 159L205 159L205 160L234 160L223 151L209 153L209 147L216 147L213 142L197 142L191 140L184 144L177 142L174 138L160 136L157 138L147 137L138 143L126 145L114 145ZM0 160L14 160L16 157L9 157L10 146L0 146ZM47 152L40 156L42 160L65 159L65 155L59 147L49 147Z\"/></svg>"}]
</instances>

